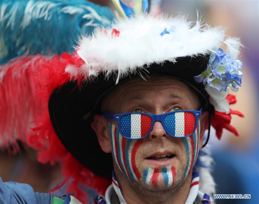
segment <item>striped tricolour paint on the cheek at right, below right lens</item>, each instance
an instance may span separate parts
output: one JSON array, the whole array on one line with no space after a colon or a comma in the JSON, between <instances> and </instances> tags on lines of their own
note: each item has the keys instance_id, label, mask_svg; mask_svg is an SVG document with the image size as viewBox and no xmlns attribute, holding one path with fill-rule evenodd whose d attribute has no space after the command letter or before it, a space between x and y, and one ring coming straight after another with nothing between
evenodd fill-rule
<instances>
[{"instance_id":1,"label":"striped tricolour paint on the cheek at right, below right lens","mask_svg":"<svg viewBox=\"0 0 259 204\"><path fill-rule=\"evenodd\" d=\"M199 153L199 138L200 138L200 122L197 122L197 128L193 135L182 138L186 151L186 167L184 170L184 178L186 178L195 164Z\"/></svg>"}]
</instances>

